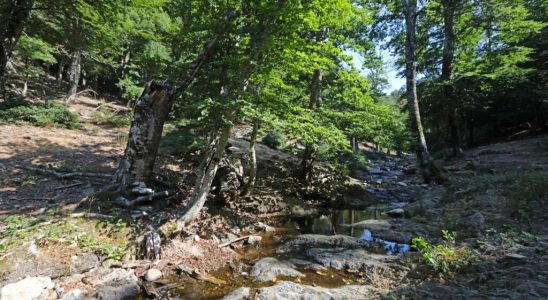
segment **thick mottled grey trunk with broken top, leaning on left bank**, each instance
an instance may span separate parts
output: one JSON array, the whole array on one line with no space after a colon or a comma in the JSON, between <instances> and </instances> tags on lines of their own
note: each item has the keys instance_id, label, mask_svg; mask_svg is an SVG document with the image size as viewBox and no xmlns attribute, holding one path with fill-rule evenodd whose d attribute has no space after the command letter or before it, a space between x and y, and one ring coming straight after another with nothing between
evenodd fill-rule
<instances>
[{"instance_id":1,"label":"thick mottled grey trunk with broken top, leaning on left bank","mask_svg":"<svg viewBox=\"0 0 548 300\"><path fill-rule=\"evenodd\" d=\"M150 185L164 123L175 99L173 92L167 84L150 82L137 100L124 157L114 175L120 194L129 196L134 185Z\"/></svg>"}]
</instances>

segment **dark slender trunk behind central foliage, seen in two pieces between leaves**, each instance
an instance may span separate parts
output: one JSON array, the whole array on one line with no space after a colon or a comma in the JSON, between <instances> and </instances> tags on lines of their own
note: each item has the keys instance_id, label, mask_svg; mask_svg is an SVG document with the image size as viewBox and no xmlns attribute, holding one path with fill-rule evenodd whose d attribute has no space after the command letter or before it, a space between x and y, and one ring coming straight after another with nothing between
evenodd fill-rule
<instances>
[{"instance_id":1,"label":"dark slender trunk behind central foliage, seen in two pieces between leaves","mask_svg":"<svg viewBox=\"0 0 548 300\"><path fill-rule=\"evenodd\" d=\"M322 79L323 71L316 69L312 76L312 82L310 83L310 102L308 103L309 109L317 109L322 102ZM301 161L301 179L307 182L312 175L312 169L314 160L316 159L317 147L313 144L306 144L303 151L303 158Z\"/></svg>"}]
</instances>

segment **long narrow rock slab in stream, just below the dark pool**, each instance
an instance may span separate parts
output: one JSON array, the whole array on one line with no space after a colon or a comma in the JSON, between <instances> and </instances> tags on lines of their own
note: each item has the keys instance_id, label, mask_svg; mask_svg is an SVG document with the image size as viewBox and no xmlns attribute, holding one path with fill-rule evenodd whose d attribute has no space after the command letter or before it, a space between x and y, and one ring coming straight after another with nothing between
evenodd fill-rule
<instances>
[{"instance_id":1,"label":"long narrow rock slab in stream, just below the dark pool","mask_svg":"<svg viewBox=\"0 0 548 300\"><path fill-rule=\"evenodd\" d=\"M347 235L302 234L296 236L291 241L279 247L276 252L297 252L303 248L343 247L347 249L355 249L367 248L370 246L371 244L367 241Z\"/></svg>"}]
</instances>

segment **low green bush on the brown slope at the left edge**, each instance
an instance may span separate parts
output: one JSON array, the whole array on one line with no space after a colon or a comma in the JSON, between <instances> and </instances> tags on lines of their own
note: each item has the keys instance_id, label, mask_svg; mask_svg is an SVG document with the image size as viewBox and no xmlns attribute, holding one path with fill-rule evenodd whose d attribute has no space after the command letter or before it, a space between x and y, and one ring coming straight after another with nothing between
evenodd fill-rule
<instances>
[{"instance_id":1,"label":"low green bush on the brown slope at the left edge","mask_svg":"<svg viewBox=\"0 0 548 300\"><path fill-rule=\"evenodd\" d=\"M45 105L16 106L0 111L0 120L8 123L29 123L40 127L80 128L76 113L52 101Z\"/></svg>"}]
</instances>

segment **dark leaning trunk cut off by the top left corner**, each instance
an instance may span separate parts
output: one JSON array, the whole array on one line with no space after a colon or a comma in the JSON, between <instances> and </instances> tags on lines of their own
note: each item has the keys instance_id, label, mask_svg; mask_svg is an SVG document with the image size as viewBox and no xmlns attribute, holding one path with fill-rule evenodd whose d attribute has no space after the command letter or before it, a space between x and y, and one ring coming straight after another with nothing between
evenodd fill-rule
<instances>
[{"instance_id":1,"label":"dark leaning trunk cut off by the top left corner","mask_svg":"<svg viewBox=\"0 0 548 300\"><path fill-rule=\"evenodd\" d=\"M4 0L0 7L0 81L23 31L33 0Z\"/></svg>"}]
</instances>

